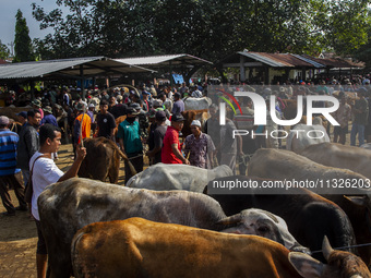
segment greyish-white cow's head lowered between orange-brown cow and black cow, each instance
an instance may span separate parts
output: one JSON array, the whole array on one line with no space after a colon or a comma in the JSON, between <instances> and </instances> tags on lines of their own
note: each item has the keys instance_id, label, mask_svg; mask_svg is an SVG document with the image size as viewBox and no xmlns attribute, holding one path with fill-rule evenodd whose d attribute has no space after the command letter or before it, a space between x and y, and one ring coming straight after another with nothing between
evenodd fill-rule
<instances>
[{"instance_id":1,"label":"greyish-white cow's head lowered between orange-brown cow and black cow","mask_svg":"<svg viewBox=\"0 0 371 278\"><path fill-rule=\"evenodd\" d=\"M237 215L222 219L218 223L232 226L222 230L222 232L255 234L274 240L290 251L310 254L309 249L300 245L288 231L285 220L266 210L256 208L244 209Z\"/></svg>"}]
</instances>

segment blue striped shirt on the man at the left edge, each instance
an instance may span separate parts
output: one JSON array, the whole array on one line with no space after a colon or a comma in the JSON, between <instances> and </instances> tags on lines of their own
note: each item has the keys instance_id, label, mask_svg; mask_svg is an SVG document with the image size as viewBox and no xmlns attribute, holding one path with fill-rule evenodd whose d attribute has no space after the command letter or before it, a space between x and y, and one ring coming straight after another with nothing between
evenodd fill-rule
<instances>
[{"instance_id":1,"label":"blue striped shirt on the man at the left edge","mask_svg":"<svg viewBox=\"0 0 371 278\"><path fill-rule=\"evenodd\" d=\"M14 174L16 168L16 145L19 135L10 130L0 130L0 176Z\"/></svg>"}]
</instances>

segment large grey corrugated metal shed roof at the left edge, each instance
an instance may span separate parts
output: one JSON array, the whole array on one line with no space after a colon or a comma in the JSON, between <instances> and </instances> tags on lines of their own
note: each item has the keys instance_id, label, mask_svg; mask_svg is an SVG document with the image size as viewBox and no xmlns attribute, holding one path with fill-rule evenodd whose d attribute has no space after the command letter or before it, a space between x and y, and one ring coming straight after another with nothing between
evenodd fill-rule
<instances>
[{"instance_id":1,"label":"large grey corrugated metal shed roof at the left edge","mask_svg":"<svg viewBox=\"0 0 371 278\"><path fill-rule=\"evenodd\" d=\"M99 56L1 64L0 80L43 78L49 75L67 75L76 77L80 76L81 67L83 69L84 76L128 72L153 72L153 70L115 61L112 59Z\"/></svg>"}]
</instances>

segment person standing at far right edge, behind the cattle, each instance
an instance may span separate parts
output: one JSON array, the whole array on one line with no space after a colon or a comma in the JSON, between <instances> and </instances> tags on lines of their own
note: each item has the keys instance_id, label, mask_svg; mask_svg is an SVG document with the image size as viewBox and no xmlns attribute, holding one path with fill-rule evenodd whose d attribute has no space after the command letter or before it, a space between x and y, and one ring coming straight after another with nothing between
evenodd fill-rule
<instances>
[{"instance_id":1,"label":"person standing at far right edge, behind the cattle","mask_svg":"<svg viewBox=\"0 0 371 278\"><path fill-rule=\"evenodd\" d=\"M360 89L358 92L359 99L356 100L352 112L355 119L350 131L350 145L356 146L356 136L358 133L359 146L364 144L364 126L368 123L369 104L366 99L366 90Z\"/></svg>"}]
</instances>

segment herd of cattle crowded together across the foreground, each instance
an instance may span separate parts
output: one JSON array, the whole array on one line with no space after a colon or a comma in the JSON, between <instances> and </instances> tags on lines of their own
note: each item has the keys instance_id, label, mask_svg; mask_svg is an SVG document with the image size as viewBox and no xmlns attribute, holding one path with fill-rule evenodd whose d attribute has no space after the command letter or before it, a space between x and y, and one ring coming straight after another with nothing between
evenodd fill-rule
<instances>
[{"instance_id":1,"label":"herd of cattle crowded together across the foreground","mask_svg":"<svg viewBox=\"0 0 371 278\"><path fill-rule=\"evenodd\" d=\"M101 150L106 176L81 172L89 179L51 184L38 198L49 277L371 277L368 188L340 194L337 188L292 186L287 194L267 194L262 186L243 194L210 190L231 179L260 185L288 179L367 182L368 149L332 143L297 153L262 148L248 176L232 176L227 166L158 164L121 186L112 184L121 154L101 140L89 144L109 146L110 155ZM111 183L98 181L106 178Z\"/></svg>"}]
</instances>

